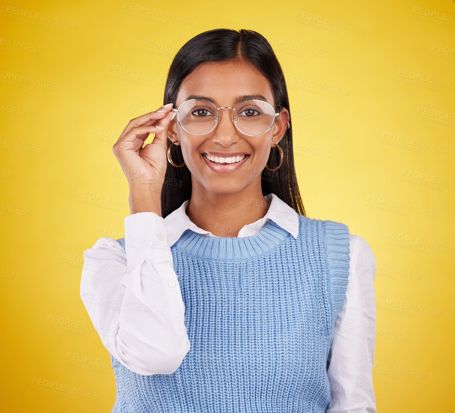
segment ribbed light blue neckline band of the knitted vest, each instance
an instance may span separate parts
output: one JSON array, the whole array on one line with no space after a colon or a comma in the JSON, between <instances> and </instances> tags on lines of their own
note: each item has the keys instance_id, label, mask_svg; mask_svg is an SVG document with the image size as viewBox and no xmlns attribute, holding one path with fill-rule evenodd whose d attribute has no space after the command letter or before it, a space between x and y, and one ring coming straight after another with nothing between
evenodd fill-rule
<instances>
[{"instance_id":1,"label":"ribbed light blue neckline band of the knitted vest","mask_svg":"<svg viewBox=\"0 0 455 413\"><path fill-rule=\"evenodd\" d=\"M293 238L293 235L270 220L261 231L249 237L205 237L187 229L172 249L203 260L245 261L245 258L257 259L267 255L287 237Z\"/></svg>"}]
</instances>

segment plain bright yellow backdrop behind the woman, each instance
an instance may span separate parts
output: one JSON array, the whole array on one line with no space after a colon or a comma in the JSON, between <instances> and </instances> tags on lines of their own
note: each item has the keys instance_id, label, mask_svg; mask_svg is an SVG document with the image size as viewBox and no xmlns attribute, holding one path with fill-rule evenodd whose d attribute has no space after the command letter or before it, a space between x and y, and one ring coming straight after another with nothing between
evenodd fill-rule
<instances>
[{"instance_id":1,"label":"plain bright yellow backdrop behind the woman","mask_svg":"<svg viewBox=\"0 0 455 413\"><path fill-rule=\"evenodd\" d=\"M131 118L162 105L177 50L224 27L263 34L288 76L308 216L346 223L373 249L386 332L373 369L378 412L450 411L455 2L141 1L139 12L122 1L2 2L0 410L111 411L109 355L79 295L83 251L123 237L129 214L111 148ZM152 80L116 77L116 66ZM86 396L45 393L39 380Z\"/></svg>"}]
</instances>

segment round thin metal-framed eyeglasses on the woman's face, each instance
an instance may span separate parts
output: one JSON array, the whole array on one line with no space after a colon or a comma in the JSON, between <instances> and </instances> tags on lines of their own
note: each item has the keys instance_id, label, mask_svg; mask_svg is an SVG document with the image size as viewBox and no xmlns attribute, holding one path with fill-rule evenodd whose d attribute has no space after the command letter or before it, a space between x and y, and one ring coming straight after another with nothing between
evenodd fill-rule
<instances>
[{"instance_id":1,"label":"round thin metal-framed eyeglasses on the woman's face","mask_svg":"<svg viewBox=\"0 0 455 413\"><path fill-rule=\"evenodd\" d=\"M203 99L189 99L172 111L177 112L178 123L184 131L192 135L205 135L217 127L219 109L233 109L235 127L248 136L263 135L273 126L275 118L280 116L267 102L256 99L239 103L235 108L217 107Z\"/></svg>"}]
</instances>

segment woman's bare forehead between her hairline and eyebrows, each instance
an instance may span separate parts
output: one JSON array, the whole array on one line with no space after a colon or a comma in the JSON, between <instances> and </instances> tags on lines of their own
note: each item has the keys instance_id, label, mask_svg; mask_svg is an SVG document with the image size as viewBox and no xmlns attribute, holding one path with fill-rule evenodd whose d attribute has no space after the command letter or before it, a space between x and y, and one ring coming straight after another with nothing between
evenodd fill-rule
<instances>
[{"instance_id":1,"label":"woman's bare forehead between her hairline and eyebrows","mask_svg":"<svg viewBox=\"0 0 455 413\"><path fill-rule=\"evenodd\" d=\"M206 62L198 65L182 81L176 106L191 95L210 97L217 106L235 106L238 96L262 95L274 106L267 78L246 62Z\"/></svg>"}]
</instances>

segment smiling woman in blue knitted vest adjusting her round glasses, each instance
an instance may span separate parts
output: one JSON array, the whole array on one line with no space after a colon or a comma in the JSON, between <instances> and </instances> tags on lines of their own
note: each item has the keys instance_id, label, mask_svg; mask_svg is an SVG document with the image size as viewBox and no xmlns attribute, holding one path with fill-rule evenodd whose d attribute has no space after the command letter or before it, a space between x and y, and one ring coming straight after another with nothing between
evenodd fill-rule
<instances>
[{"instance_id":1,"label":"smiling woman in blue knitted vest adjusting her round glasses","mask_svg":"<svg viewBox=\"0 0 455 413\"><path fill-rule=\"evenodd\" d=\"M112 149L130 187L125 238L84 252L113 411L375 412L374 255L345 224L305 215L267 40L195 36L164 102Z\"/></svg>"}]
</instances>

